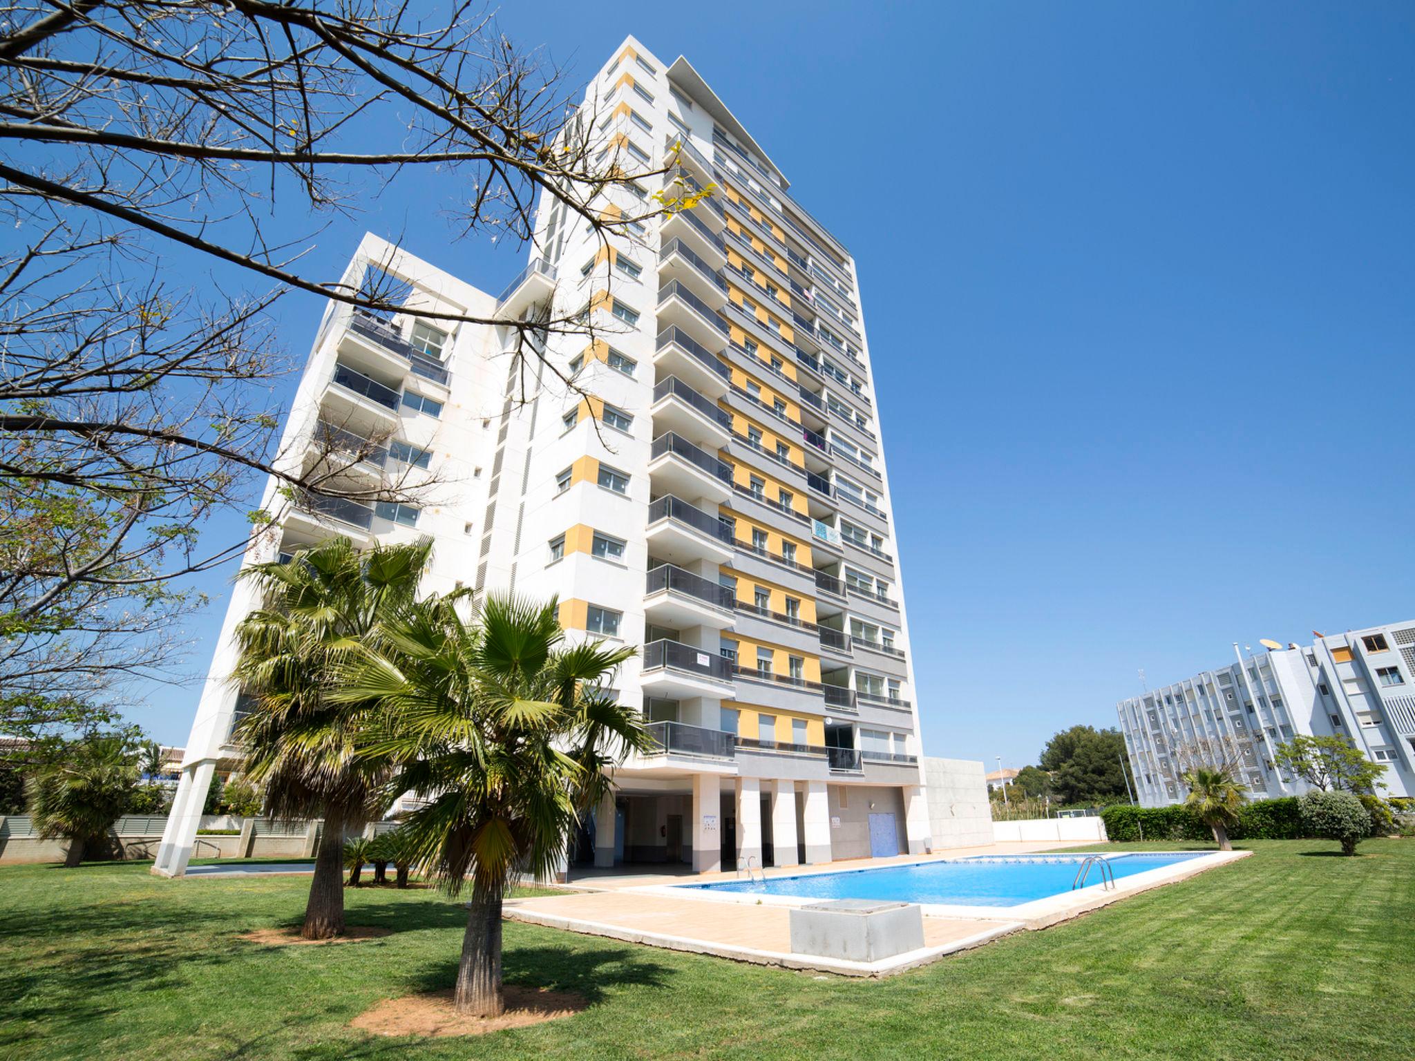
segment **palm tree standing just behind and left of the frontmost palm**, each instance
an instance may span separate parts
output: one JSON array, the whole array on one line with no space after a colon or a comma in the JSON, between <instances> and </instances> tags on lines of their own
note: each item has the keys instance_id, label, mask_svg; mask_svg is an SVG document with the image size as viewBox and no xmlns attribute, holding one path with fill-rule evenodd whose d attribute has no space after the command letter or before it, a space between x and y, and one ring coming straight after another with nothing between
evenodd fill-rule
<instances>
[{"instance_id":1,"label":"palm tree standing just behind and left of the frontmost palm","mask_svg":"<svg viewBox=\"0 0 1415 1061\"><path fill-rule=\"evenodd\" d=\"M383 628L413 605L430 539L358 550L345 538L253 564L265 607L236 628L232 679L253 699L233 740L246 777L265 789L275 818L323 816L314 880L300 934L344 932L344 836L382 813L389 765L361 754L371 703L328 696L337 668L381 647Z\"/></svg>"}]
</instances>

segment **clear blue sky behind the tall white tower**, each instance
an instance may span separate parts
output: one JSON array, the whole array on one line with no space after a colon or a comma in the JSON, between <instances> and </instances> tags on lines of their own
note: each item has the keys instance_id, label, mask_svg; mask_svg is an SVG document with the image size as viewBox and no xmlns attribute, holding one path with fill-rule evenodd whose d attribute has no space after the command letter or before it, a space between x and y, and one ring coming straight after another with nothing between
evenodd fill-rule
<instances>
[{"instance_id":1,"label":"clear blue sky behind the tall white tower","mask_svg":"<svg viewBox=\"0 0 1415 1061\"><path fill-rule=\"evenodd\" d=\"M1139 668L1415 618L1415 7L710 10L501 24L579 81L686 54L855 255L928 754L1023 765ZM318 262L368 228L499 290L524 252L415 180ZM280 307L296 355L320 308ZM198 690L134 717L181 743Z\"/></svg>"}]
</instances>

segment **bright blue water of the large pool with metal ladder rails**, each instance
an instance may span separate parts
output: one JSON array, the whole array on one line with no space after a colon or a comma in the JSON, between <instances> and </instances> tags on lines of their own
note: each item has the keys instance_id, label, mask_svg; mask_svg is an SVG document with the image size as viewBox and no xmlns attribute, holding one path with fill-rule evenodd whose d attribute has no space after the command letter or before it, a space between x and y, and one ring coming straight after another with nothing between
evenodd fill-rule
<instances>
[{"instance_id":1,"label":"bright blue water of the large pool with metal ladder rails","mask_svg":"<svg viewBox=\"0 0 1415 1061\"><path fill-rule=\"evenodd\" d=\"M1199 859L1207 852L1132 852L1108 859L1115 877L1129 877L1160 866ZM706 891L746 891L799 898L879 898L968 907L1015 907L1071 890L1084 854L999 854L884 866L845 873L771 877L766 881L685 884ZM1095 867L1087 880L1099 884Z\"/></svg>"}]
</instances>

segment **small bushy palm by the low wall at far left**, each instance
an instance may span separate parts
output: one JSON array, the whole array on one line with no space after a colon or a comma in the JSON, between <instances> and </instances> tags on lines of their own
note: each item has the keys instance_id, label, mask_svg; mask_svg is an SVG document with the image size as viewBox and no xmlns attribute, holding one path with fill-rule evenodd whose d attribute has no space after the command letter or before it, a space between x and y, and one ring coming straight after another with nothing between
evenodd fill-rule
<instances>
[{"instance_id":1,"label":"small bushy palm by the low wall at far left","mask_svg":"<svg viewBox=\"0 0 1415 1061\"><path fill-rule=\"evenodd\" d=\"M137 758L119 736L89 737L25 781L30 818L45 840L67 837L64 864L102 846L137 785Z\"/></svg>"}]
</instances>

